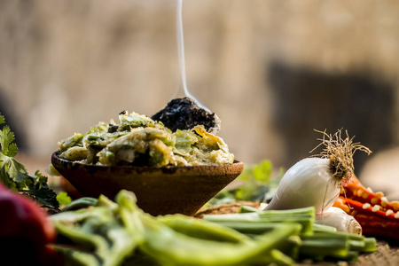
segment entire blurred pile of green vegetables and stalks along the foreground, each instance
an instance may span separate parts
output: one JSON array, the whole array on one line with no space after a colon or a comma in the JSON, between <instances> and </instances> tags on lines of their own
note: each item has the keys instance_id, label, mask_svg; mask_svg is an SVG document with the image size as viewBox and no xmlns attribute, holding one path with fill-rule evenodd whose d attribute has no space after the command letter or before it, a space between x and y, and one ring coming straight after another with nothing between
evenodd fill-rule
<instances>
[{"instance_id":1,"label":"entire blurred pile of green vegetables and stalks along the foreground","mask_svg":"<svg viewBox=\"0 0 399 266\"><path fill-rule=\"evenodd\" d=\"M303 259L356 261L375 251L375 239L314 223L314 208L239 214L153 217L132 192L115 201L73 201L51 216L66 265L291 265Z\"/></svg>"}]
</instances>

